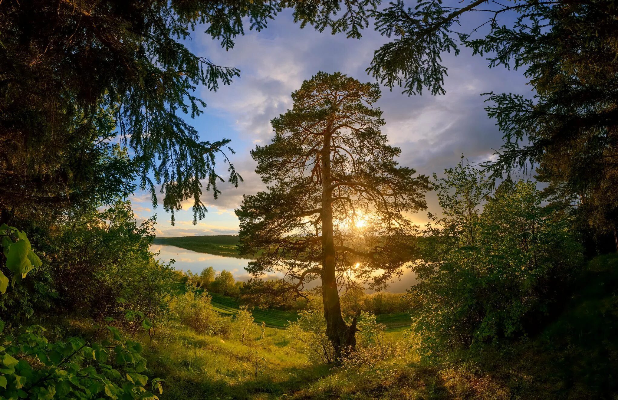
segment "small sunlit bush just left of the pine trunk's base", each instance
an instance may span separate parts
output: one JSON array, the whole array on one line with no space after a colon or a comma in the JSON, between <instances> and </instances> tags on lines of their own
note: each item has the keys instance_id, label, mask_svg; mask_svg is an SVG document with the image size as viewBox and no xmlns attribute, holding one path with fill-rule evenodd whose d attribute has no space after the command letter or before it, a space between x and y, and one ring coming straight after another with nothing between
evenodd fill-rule
<instances>
[{"instance_id":1,"label":"small sunlit bush just left of the pine trunk's base","mask_svg":"<svg viewBox=\"0 0 618 400\"><path fill-rule=\"evenodd\" d=\"M311 362L331 364L335 360L335 349L326 336L323 313L323 310L302 310L298 312L298 320L290 322L287 330Z\"/></svg>"}]
</instances>

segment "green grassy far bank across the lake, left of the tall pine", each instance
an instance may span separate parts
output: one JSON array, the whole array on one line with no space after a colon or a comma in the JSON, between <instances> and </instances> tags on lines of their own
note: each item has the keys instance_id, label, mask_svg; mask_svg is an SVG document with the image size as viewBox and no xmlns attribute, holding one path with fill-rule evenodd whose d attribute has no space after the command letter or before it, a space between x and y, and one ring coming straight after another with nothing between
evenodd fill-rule
<instances>
[{"instance_id":1,"label":"green grassy far bank across the lake, left of the tall pine","mask_svg":"<svg viewBox=\"0 0 618 400\"><path fill-rule=\"evenodd\" d=\"M155 237L154 244L170 245L198 253L223 257L252 258L240 256L238 235Z\"/></svg>"}]
</instances>

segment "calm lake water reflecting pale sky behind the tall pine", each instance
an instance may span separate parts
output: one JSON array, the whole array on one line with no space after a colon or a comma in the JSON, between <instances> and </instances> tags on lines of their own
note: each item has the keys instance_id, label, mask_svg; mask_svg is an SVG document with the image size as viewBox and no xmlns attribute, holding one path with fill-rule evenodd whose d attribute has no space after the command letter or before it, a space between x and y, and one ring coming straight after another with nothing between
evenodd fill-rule
<instances>
[{"instance_id":1,"label":"calm lake water reflecting pale sky behind the tall pine","mask_svg":"<svg viewBox=\"0 0 618 400\"><path fill-rule=\"evenodd\" d=\"M176 260L174 268L176 270L191 271L192 273L199 274L204 268L212 266L215 271L222 270L230 271L234 274L234 278L238 281L246 281L252 278L250 274L245 271L245 266L251 261L247 258L234 258L223 257L221 255L214 255L208 253L198 253L193 250L182 249L181 247L153 244L150 246L150 250L154 253L160 252L156 258L163 262L169 262L172 258ZM410 286L416 283L416 276L410 270L410 268L403 268L403 276L400 281L394 281L389 283L387 292L401 293L406 289L410 289ZM268 274L267 279L280 278L282 274ZM318 281L313 281L306 288L313 287L318 284ZM371 292L371 291L368 291Z\"/></svg>"}]
</instances>

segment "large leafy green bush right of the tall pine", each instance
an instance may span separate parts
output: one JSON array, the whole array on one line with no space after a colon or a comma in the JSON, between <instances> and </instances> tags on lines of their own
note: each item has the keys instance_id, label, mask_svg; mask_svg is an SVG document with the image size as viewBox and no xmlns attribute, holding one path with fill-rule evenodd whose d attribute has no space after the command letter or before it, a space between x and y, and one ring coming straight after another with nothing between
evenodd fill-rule
<instances>
[{"instance_id":1,"label":"large leafy green bush right of the tall pine","mask_svg":"<svg viewBox=\"0 0 618 400\"><path fill-rule=\"evenodd\" d=\"M543 207L533 182L489 194L485 174L463 160L445 172L435 183L444 218L433 217L432 244L413 267L412 330L426 354L525 333L582 264L569 218Z\"/></svg>"}]
</instances>

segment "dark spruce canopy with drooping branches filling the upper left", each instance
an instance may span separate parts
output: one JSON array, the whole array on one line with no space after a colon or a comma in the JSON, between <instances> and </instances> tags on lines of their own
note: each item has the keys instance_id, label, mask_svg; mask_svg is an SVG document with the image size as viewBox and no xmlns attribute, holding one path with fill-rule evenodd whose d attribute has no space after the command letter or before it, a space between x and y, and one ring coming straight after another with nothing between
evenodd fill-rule
<instances>
[{"instance_id":1,"label":"dark spruce canopy with drooping branches filling the upper left","mask_svg":"<svg viewBox=\"0 0 618 400\"><path fill-rule=\"evenodd\" d=\"M229 140L201 140L185 120L203 111L198 86L216 90L239 75L193 54L192 30L226 49L245 23L261 30L286 7L302 26L360 35L375 0L296 1L3 1L0 3L0 193L2 208L112 202L136 187L163 193L166 211L203 186L216 198L217 155L227 181ZM342 9L343 8L343 9ZM336 15L337 14L337 15ZM33 28L33 27L36 27ZM117 143L121 150L112 146ZM137 186L133 181L137 179Z\"/></svg>"}]
</instances>

